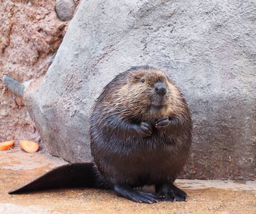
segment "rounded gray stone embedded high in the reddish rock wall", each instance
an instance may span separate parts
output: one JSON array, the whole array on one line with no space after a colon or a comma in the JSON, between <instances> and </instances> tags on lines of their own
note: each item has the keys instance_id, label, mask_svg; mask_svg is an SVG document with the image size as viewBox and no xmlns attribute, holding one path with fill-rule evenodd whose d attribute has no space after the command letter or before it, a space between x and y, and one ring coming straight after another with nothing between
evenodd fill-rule
<instances>
[{"instance_id":1,"label":"rounded gray stone embedded high in the reddish rock wall","mask_svg":"<svg viewBox=\"0 0 256 214\"><path fill-rule=\"evenodd\" d=\"M76 10L76 4L73 0L56 0L55 10L62 21L69 21Z\"/></svg>"}]
</instances>

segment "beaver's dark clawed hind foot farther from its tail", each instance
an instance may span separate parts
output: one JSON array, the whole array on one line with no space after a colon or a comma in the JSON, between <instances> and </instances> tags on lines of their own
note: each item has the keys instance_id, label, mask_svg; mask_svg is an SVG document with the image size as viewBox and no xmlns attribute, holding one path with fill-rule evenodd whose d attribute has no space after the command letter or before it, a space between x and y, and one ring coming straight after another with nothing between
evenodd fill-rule
<instances>
[{"instance_id":1,"label":"beaver's dark clawed hind foot farther from its tail","mask_svg":"<svg viewBox=\"0 0 256 214\"><path fill-rule=\"evenodd\" d=\"M164 201L182 202L188 200L187 193L172 183L156 185L156 193L165 196Z\"/></svg>"}]
</instances>

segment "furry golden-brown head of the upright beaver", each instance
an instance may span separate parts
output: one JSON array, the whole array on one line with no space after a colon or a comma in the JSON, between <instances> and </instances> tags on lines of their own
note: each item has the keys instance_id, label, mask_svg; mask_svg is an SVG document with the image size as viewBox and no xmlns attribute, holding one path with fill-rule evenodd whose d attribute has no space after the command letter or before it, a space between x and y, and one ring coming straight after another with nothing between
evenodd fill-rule
<instances>
[{"instance_id":1,"label":"furry golden-brown head of the upright beaver","mask_svg":"<svg viewBox=\"0 0 256 214\"><path fill-rule=\"evenodd\" d=\"M118 75L109 100L113 109L134 119L155 121L157 118L182 113L183 97L163 71L153 67L132 67ZM109 104L110 104L109 103ZM119 108L123 106L123 108Z\"/></svg>"}]
</instances>

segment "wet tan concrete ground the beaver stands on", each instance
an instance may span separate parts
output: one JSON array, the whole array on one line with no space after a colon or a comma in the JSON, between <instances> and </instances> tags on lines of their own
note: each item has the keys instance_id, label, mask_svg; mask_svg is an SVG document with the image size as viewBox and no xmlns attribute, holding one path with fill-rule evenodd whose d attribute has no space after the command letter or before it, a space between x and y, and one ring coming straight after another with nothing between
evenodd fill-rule
<instances>
[{"instance_id":1,"label":"wet tan concrete ground the beaver stands on","mask_svg":"<svg viewBox=\"0 0 256 214\"><path fill-rule=\"evenodd\" d=\"M87 188L45 190L24 195L7 192L35 179L64 160L29 154L19 148L0 151L0 213L254 213L256 181L177 180L187 202L140 204L117 197L111 190ZM152 188L144 190L152 191Z\"/></svg>"}]
</instances>

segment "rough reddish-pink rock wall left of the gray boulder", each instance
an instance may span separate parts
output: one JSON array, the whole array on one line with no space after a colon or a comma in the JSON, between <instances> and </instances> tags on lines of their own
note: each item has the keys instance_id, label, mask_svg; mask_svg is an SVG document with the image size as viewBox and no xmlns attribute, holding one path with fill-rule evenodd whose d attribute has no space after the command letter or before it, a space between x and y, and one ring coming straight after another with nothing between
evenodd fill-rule
<instances>
[{"instance_id":1,"label":"rough reddish-pink rock wall left of the gray boulder","mask_svg":"<svg viewBox=\"0 0 256 214\"><path fill-rule=\"evenodd\" d=\"M58 18L54 3L54 0L0 1L0 79L8 74L27 85L46 73L69 24ZM2 81L0 121L0 142L40 141L22 97L13 94Z\"/></svg>"}]
</instances>

